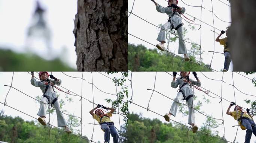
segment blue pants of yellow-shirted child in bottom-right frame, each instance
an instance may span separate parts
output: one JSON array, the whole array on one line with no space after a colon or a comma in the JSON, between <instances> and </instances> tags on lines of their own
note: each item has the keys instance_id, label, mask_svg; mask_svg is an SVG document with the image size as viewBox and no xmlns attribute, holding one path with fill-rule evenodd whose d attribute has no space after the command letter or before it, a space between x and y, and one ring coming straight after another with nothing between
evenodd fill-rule
<instances>
[{"instance_id":1,"label":"blue pants of yellow-shirted child in bottom-right frame","mask_svg":"<svg viewBox=\"0 0 256 143\"><path fill-rule=\"evenodd\" d=\"M256 136L256 125L253 120L248 118L242 119L242 125L246 127L246 141L244 143L250 143L252 133Z\"/></svg>"}]
</instances>

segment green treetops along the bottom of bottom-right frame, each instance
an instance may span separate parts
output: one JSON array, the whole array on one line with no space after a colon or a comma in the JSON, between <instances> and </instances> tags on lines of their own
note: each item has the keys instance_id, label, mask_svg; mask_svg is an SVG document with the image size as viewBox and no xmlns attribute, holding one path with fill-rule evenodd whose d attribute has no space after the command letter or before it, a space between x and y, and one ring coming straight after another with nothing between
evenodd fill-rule
<instances>
[{"instance_id":1,"label":"green treetops along the bottom of bottom-right frame","mask_svg":"<svg viewBox=\"0 0 256 143\"><path fill-rule=\"evenodd\" d=\"M178 123L162 123L158 119L144 118L142 114L131 113L128 117L129 140L126 143L227 143L207 134L192 133ZM207 118L200 130L219 137L218 132L213 131L218 126L214 119Z\"/></svg>"}]
</instances>

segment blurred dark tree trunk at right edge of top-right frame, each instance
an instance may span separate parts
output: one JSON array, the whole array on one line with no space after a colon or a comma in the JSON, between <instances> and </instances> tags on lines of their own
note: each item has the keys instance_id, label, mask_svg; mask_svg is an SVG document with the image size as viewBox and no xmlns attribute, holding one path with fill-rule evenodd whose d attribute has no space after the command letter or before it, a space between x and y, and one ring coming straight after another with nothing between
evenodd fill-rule
<instances>
[{"instance_id":1,"label":"blurred dark tree trunk at right edge of top-right frame","mask_svg":"<svg viewBox=\"0 0 256 143\"><path fill-rule=\"evenodd\" d=\"M232 0L230 48L234 71L256 71L256 0Z\"/></svg>"}]
</instances>

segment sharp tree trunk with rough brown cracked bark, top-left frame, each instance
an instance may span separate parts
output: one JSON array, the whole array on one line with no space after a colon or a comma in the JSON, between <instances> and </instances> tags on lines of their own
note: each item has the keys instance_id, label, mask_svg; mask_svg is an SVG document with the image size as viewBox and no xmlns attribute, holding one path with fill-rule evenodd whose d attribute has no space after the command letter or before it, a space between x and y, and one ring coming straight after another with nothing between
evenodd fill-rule
<instances>
[{"instance_id":1,"label":"sharp tree trunk with rough brown cracked bark, top-left frame","mask_svg":"<svg viewBox=\"0 0 256 143\"><path fill-rule=\"evenodd\" d=\"M74 20L78 71L128 70L128 0L78 0Z\"/></svg>"}]
</instances>

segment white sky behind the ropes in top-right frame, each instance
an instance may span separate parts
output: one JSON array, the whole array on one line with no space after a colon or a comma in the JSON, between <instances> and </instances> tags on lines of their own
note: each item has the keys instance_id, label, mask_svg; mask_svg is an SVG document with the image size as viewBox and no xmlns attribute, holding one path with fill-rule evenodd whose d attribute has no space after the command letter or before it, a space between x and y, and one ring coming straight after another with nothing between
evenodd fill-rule
<instances>
[{"instance_id":1,"label":"white sky behind the ropes in top-right frame","mask_svg":"<svg viewBox=\"0 0 256 143\"><path fill-rule=\"evenodd\" d=\"M163 7L167 7L167 1L165 0L155 0L156 3L160 4ZM186 4L191 5L187 6L182 1L184 1ZM193 17L196 17L197 19L200 19L201 16L201 7L192 7L192 6L201 6L202 1L201 0L179 0L178 6L185 7L186 13L189 15L192 15ZM226 4L229 4L229 2L226 2L225 0L220 0ZM221 20L224 20L226 22L220 21L216 16L214 16L214 26L217 29L220 30L226 30L226 27L230 26L231 23L231 7L221 3L219 0L213 0L213 12L215 15L218 16ZM131 12L132 9L133 0L128 0L128 11ZM211 7L211 0L204 0L202 3L202 7L205 9L202 9L202 21L205 23L208 23L209 25L213 26L213 15L210 11L212 11ZM137 16L140 16L141 18L153 23L154 25L164 24L167 22L168 16L165 13L159 13L156 11L155 4L150 0L135 0L134 7L132 9L132 13L134 13ZM193 19L191 16L184 14L187 18ZM184 18L184 17L183 17ZM185 19L185 18L184 18ZM217 38L217 34L214 35L214 28L202 23L201 29L200 28L200 21L196 20L195 31L192 31L188 28L188 22L185 20L182 20L184 23L184 27L188 29L188 33L185 35L185 38L189 38L190 41L196 42L200 45L200 31L202 29L202 35L201 35L201 48L204 53L202 56L202 62L205 64L211 63L211 58L213 53L208 51L216 51L219 53L223 53L223 45L220 45L219 42L215 42L215 39ZM192 22L193 23L193 22ZM215 29L215 31L220 34L220 31ZM211 31L212 30L212 31ZM159 44L158 41L156 41L156 38L159 34L160 29L151 25L150 23L145 22L144 20L141 20L140 18L130 15L128 18L128 33L135 35L139 38L142 38L154 45ZM222 35L222 38L225 38L225 34ZM156 48L153 45L150 45L144 41L141 41L140 39L137 39L131 35L128 35L128 42L129 44L142 44L146 46L148 49ZM168 43L168 42L167 42ZM165 44L165 47L167 47L167 44ZM178 47L179 42L178 40L175 43L170 43L169 50L171 52L175 51L175 54L178 54ZM191 44L186 42L187 50L191 48ZM213 61L211 64L211 68L217 71L220 71L223 69L224 60L225 57L223 54L214 53ZM183 56L182 54L178 54L180 56ZM198 57L199 58L199 57ZM229 70L232 71L232 63L229 67Z\"/></svg>"}]
</instances>

